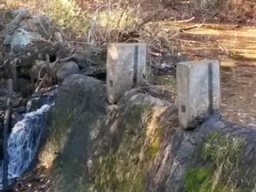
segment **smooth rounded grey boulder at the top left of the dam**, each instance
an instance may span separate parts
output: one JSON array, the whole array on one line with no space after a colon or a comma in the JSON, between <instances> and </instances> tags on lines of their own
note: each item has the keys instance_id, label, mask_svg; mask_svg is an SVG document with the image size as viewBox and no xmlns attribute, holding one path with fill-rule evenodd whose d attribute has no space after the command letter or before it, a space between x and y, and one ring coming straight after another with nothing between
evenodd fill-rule
<instances>
[{"instance_id":1,"label":"smooth rounded grey boulder at the top left of the dam","mask_svg":"<svg viewBox=\"0 0 256 192\"><path fill-rule=\"evenodd\" d=\"M65 78L68 78L71 74L77 74L79 72L79 65L74 61L68 61L67 63L61 63L57 69L57 81L63 82Z\"/></svg>"}]
</instances>

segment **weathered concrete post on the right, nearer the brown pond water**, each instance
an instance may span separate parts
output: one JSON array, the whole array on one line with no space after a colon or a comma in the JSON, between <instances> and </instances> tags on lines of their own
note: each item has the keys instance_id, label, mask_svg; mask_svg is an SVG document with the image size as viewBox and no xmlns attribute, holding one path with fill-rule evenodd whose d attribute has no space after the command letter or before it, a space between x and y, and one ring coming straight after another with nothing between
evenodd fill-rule
<instances>
[{"instance_id":1,"label":"weathered concrete post on the right, nearer the brown pond water","mask_svg":"<svg viewBox=\"0 0 256 192\"><path fill-rule=\"evenodd\" d=\"M178 118L183 129L194 129L218 113L221 103L218 60L177 63Z\"/></svg>"}]
</instances>

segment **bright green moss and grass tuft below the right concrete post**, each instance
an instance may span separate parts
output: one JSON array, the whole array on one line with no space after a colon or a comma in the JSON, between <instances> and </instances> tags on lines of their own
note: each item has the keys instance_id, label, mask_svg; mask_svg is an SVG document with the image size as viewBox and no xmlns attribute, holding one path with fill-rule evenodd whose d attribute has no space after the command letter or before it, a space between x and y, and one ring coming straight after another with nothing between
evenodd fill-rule
<instances>
[{"instance_id":1,"label":"bright green moss and grass tuft below the right concrete post","mask_svg":"<svg viewBox=\"0 0 256 192\"><path fill-rule=\"evenodd\" d=\"M186 191L229 192L240 191L232 182L240 155L243 150L243 139L222 136L212 132L207 137L202 149L204 166L190 168L185 176Z\"/></svg>"}]
</instances>

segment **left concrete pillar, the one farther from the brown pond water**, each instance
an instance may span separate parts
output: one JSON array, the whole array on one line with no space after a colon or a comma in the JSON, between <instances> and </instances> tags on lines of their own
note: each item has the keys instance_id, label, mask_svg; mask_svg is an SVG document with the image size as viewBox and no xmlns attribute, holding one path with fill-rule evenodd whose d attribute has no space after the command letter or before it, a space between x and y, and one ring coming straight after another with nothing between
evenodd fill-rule
<instances>
[{"instance_id":1,"label":"left concrete pillar, the one farther from the brown pond water","mask_svg":"<svg viewBox=\"0 0 256 192\"><path fill-rule=\"evenodd\" d=\"M144 85L146 63L147 44L108 44L107 95L110 103L116 103L127 90Z\"/></svg>"}]
</instances>

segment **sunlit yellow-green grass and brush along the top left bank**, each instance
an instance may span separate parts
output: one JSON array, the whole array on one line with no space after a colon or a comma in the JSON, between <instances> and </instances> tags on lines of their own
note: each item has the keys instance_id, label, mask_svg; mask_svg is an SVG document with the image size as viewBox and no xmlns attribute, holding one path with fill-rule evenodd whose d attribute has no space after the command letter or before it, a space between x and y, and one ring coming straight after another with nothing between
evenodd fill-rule
<instances>
[{"instance_id":1,"label":"sunlit yellow-green grass and brush along the top left bank","mask_svg":"<svg viewBox=\"0 0 256 192\"><path fill-rule=\"evenodd\" d=\"M104 1L80 5L76 0L0 0L6 9L28 8L33 13L47 14L61 27L71 31L75 38L83 38L87 42L93 42L92 39L103 42L110 31L117 31L112 36L116 40L119 31L137 21L137 14L134 13L138 8L124 2L108 6Z\"/></svg>"}]
</instances>

